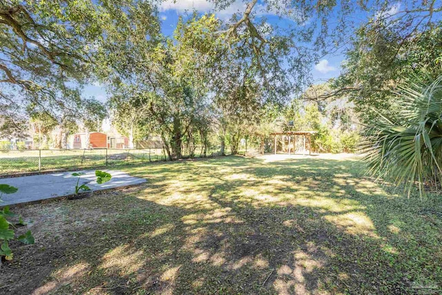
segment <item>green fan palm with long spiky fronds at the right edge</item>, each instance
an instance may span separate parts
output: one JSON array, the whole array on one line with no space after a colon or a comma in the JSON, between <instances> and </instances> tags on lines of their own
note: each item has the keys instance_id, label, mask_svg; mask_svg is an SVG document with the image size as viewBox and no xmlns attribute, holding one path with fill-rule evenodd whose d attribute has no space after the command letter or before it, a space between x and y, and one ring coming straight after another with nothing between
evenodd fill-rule
<instances>
[{"instance_id":1,"label":"green fan palm with long spiky fronds at the right edge","mask_svg":"<svg viewBox=\"0 0 442 295\"><path fill-rule=\"evenodd\" d=\"M442 184L442 75L430 85L400 88L398 119L379 115L365 134L368 173L395 184L439 190Z\"/></svg>"}]
</instances>

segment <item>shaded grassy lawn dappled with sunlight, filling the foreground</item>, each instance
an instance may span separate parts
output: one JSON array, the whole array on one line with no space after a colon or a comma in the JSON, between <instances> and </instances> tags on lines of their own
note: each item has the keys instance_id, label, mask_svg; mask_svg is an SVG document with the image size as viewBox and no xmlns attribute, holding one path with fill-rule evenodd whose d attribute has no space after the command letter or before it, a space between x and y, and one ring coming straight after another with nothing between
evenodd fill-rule
<instances>
[{"instance_id":1,"label":"shaded grassy lawn dappled with sunlight, filling the foreground","mask_svg":"<svg viewBox=\"0 0 442 295\"><path fill-rule=\"evenodd\" d=\"M225 157L127 167L147 184L15 209L34 221L36 244L12 243L0 293L441 293L442 198L404 198L361 166Z\"/></svg>"}]
</instances>

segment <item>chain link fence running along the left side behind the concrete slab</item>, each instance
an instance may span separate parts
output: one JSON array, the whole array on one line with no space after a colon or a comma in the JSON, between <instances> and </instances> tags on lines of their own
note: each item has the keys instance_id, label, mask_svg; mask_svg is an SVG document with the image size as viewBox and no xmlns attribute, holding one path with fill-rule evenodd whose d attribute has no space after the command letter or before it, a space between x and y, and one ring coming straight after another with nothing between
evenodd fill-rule
<instances>
[{"instance_id":1,"label":"chain link fence running along the left side behind the concrete slab","mask_svg":"<svg viewBox=\"0 0 442 295\"><path fill-rule=\"evenodd\" d=\"M211 149L207 155L217 150ZM195 157L200 151L195 151ZM184 158L189 158L184 155ZM163 149L50 149L0 151L0 175L95 169L167 160Z\"/></svg>"}]
</instances>

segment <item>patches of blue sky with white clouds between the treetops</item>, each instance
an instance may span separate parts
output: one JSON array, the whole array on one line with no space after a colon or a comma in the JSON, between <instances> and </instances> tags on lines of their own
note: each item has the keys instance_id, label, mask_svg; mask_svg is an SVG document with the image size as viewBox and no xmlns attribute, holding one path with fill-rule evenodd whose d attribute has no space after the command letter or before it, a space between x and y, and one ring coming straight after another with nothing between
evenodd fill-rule
<instances>
[{"instance_id":1,"label":"patches of blue sky with white clouds between the treetops","mask_svg":"<svg viewBox=\"0 0 442 295\"><path fill-rule=\"evenodd\" d=\"M177 21L180 15L190 15L193 10L197 10L200 13L215 12L215 15L220 19L229 19L233 13L242 13L245 10L246 4L237 0L232 3L228 8L217 11L214 10L212 3L206 0L166 0L162 1L159 6L160 20L162 22L162 32L164 35L172 35L173 30L177 25ZM383 13L389 13L394 15L398 9L401 7L401 3L398 2L390 7L389 10ZM265 11L265 5L258 1L254 11L257 17L266 17L267 22L272 25L277 25L281 27L287 26L287 22L291 22L289 19L278 17L277 15L272 15L272 12ZM365 15L354 16L356 21L365 21L367 17ZM314 83L322 83L327 81L327 79L338 77L340 74L340 66L345 58L343 52L333 53L325 55L323 59L318 61L318 64L312 66L311 75L313 76ZM106 101L107 94L102 86L99 84L88 85L84 89L85 97L95 97L100 101Z\"/></svg>"}]
</instances>

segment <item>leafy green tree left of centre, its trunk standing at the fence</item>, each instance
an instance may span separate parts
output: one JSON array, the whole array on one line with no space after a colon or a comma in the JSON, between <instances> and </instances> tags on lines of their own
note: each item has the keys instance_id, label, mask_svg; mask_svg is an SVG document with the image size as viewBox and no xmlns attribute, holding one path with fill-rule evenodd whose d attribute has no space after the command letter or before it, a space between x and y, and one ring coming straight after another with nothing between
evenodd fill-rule
<instances>
[{"instance_id":1,"label":"leafy green tree left of centre, its trunk standing at the fence","mask_svg":"<svg viewBox=\"0 0 442 295\"><path fill-rule=\"evenodd\" d=\"M111 64L124 73L107 77L109 90L119 97L116 113L127 113L128 104L142 110L144 117L137 121L150 123L162 136L171 159L182 157L184 140L189 143L193 128L204 121L198 115L204 114L202 109L207 104L204 65L208 56L192 45L213 46L210 36L217 28L213 17L180 21L173 39L131 39L134 50L127 52L126 46L120 47L124 58ZM137 35L136 29L133 35ZM198 41L188 42L190 35Z\"/></svg>"}]
</instances>

